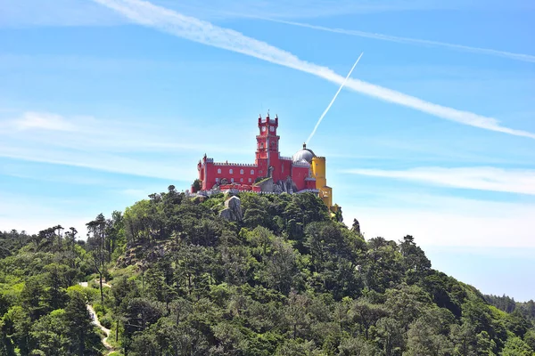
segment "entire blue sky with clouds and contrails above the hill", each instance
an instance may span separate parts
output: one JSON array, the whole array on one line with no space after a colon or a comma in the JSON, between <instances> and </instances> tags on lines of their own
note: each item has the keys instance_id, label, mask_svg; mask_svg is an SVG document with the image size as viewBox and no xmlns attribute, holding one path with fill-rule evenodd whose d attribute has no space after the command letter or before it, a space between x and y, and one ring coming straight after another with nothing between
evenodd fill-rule
<instances>
[{"instance_id":1,"label":"entire blue sky with clouds and contrails above the hill","mask_svg":"<svg viewBox=\"0 0 535 356\"><path fill-rule=\"evenodd\" d=\"M253 163L257 117L327 161L344 222L535 299L535 3L0 0L0 230L83 231L204 153Z\"/></svg>"}]
</instances>

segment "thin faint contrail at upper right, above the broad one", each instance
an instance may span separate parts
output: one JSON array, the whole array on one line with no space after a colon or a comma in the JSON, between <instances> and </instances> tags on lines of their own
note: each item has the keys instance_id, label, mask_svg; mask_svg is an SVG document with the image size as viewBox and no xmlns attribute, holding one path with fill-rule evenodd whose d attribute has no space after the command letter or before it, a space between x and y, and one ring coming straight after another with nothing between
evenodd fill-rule
<instances>
[{"instance_id":1,"label":"thin faint contrail at upper right, above the broad one","mask_svg":"<svg viewBox=\"0 0 535 356\"><path fill-rule=\"evenodd\" d=\"M506 51L491 50L488 48L472 47L472 46L463 45L463 44L449 44L446 42L431 41L431 40L426 40L426 39L390 36L390 35L383 35L383 34L378 34L374 32L358 31L358 30L353 30L353 29L325 28L323 26L310 25L308 23L302 23L302 22L293 22L293 21L267 19L267 18L259 18L259 19L268 20L272 22L285 23L287 25L299 26L301 28L313 28L313 29L319 29L321 31L340 33L340 34L350 35L350 36L374 38L374 39L380 39L383 41L397 42L400 44L416 44L416 45L443 47L443 48L449 48L452 50L457 50L457 51L462 51L462 52L480 53L480 54L487 54L487 55L492 55L496 57L504 57L510 60L515 60L515 61L535 62L535 56L531 54L511 53L511 52L506 52Z\"/></svg>"}]
</instances>

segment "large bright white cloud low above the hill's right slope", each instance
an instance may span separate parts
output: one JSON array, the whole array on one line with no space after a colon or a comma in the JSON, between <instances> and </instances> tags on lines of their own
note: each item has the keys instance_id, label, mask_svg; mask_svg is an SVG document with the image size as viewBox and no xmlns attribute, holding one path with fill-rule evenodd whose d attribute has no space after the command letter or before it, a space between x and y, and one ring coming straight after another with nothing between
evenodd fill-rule
<instances>
[{"instance_id":1,"label":"large bright white cloud low above the hill's right slope","mask_svg":"<svg viewBox=\"0 0 535 356\"><path fill-rule=\"evenodd\" d=\"M392 193L373 205L342 205L342 212L349 225L358 219L366 239L412 235L423 247L535 248L535 204Z\"/></svg>"}]
</instances>

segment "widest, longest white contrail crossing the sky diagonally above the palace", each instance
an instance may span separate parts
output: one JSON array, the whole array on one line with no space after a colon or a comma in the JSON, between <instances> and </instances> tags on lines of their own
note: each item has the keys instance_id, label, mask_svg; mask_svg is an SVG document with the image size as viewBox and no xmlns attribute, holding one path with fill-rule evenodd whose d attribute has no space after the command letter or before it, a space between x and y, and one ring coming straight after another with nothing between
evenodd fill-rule
<instances>
[{"instance_id":1,"label":"widest, longest white contrail crossing the sky diagonally above the palace","mask_svg":"<svg viewBox=\"0 0 535 356\"><path fill-rule=\"evenodd\" d=\"M157 28L173 36L182 37L190 41L207 44L236 53L258 58L284 67L297 69L316 77L342 85L344 77L324 66L308 61L302 61L292 53L281 50L273 45L257 39L244 36L242 33L229 28L220 28L210 22L185 16L161 6L156 6L142 0L94 0L99 4L110 7L140 25ZM484 117L469 111L462 111L446 106L434 104L404 93L366 83L358 79L349 78L346 87L354 92L389 101L407 108L416 109L436 117L442 117L463 125L480 127L490 131L529 137L535 139L535 134L527 131L515 130L499 125L493 117Z\"/></svg>"}]
</instances>

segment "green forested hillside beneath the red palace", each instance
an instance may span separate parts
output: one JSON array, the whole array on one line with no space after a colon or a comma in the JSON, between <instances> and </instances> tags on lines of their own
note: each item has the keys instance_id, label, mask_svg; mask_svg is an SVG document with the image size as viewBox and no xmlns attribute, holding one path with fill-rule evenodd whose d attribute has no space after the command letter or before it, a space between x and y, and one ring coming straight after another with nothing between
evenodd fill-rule
<instances>
[{"instance_id":1,"label":"green forested hillside beneath the red palace","mask_svg":"<svg viewBox=\"0 0 535 356\"><path fill-rule=\"evenodd\" d=\"M532 314L432 270L411 236L365 240L309 193L239 198L237 222L223 195L170 186L87 237L0 234L0 354L535 354Z\"/></svg>"}]
</instances>

